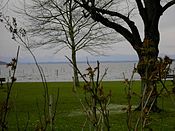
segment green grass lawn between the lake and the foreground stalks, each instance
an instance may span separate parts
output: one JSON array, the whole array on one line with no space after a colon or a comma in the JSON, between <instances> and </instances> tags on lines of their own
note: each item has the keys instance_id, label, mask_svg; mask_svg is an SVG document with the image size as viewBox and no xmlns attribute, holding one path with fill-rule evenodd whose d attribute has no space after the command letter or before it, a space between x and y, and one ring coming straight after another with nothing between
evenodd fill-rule
<instances>
[{"instance_id":1,"label":"green grass lawn between the lake and the foreground stalks","mask_svg":"<svg viewBox=\"0 0 175 131\"><path fill-rule=\"evenodd\" d=\"M140 82L133 83L132 90L139 94ZM171 83L167 83L172 88ZM49 94L54 98L59 88L59 101L57 107L55 127L59 131L81 131L86 117L83 115L79 99L83 99L83 91L78 89L78 94L72 92L71 82L49 82ZM112 91L111 105L127 105L125 94L125 85L121 81L104 82L105 92ZM39 120L39 113L43 110L44 90L42 83L15 83L10 96L10 112L8 114L9 131L17 130L17 118L21 130L24 130L29 114L28 131L33 131ZM5 99L6 88L0 89L0 103ZM175 99L175 97L172 97ZM132 97L132 104L137 105L139 98ZM37 107L37 103L39 108ZM150 127L155 131L173 131L175 130L175 105L169 96L159 98L159 107L163 109L161 113L151 113ZM138 112L133 112L133 125ZM16 117L17 116L17 117ZM111 108L110 124L112 131L126 131L126 113L116 111ZM88 125L85 130L88 130Z\"/></svg>"}]
</instances>

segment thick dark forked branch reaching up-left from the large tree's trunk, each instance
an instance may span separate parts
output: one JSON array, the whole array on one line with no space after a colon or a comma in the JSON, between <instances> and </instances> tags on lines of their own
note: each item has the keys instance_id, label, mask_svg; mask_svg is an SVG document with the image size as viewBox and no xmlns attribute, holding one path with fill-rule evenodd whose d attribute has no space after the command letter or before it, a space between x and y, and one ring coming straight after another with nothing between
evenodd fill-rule
<instances>
[{"instance_id":1,"label":"thick dark forked branch reaching up-left from the large tree's trunk","mask_svg":"<svg viewBox=\"0 0 175 131\"><path fill-rule=\"evenodd\" d=\"M75 2L77 2L77 0L75 0ZM120 33L123 37L125 37L129 41L129 43L131 43L133 48L136 49L138 46L140 46L139 44L141 43L141 38L140 38L140 35L138 32L138 29L134 25L134 22L131 21L128 17L126 17L118 12L112 12L109 10L99 9L96 7L90 7L87 2L83 2L83 3L78 2L78 4L81 7L83 7L84 9L86 9L91 14L91 17L93 20L100 22L109 28L114 29L116 32ZM132 32L130 32L124 26L110 21L109 19L105 18L102 14L108 14L110 16L117 16L117 17L121 18L122 20L124 20L128 24L128 26L130 27Z\"/></svg>"}]
</instances>

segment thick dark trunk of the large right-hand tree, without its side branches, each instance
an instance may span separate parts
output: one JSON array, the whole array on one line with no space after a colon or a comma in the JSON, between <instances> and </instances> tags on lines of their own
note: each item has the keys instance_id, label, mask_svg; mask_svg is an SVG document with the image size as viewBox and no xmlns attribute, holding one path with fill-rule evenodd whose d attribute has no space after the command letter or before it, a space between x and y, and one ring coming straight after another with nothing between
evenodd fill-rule
<instances>
[{"instance_id":1,"label":"thick dark trunk of the large right-hand tree, without its side branches","mask_svg":"<svg viewBox=\"0 0 175 131\"><path fill-rule=\"evenodd\" d=\"M140 3L138 3L139 5ZM159 112L157 107L157 89L156 89L156 71L155 63L157 62L160 41L158 29L159 19L161 16L160 1L145 0L145 8L139 7L141 17L144 22L145 38L142 47L137 50L139 56L138 73L141 76L141 93L142 101L140 106L145 109L151 109ZM141 5L140 5L141 6Z\"/></svg>"}]
</instances>

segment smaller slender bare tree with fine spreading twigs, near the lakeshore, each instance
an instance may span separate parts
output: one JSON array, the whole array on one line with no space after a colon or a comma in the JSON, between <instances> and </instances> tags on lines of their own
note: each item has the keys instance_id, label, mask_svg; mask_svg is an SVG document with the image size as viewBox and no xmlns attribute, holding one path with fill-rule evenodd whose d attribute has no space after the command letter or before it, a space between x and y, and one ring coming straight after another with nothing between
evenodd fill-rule
<instances>
[{"instance_id":1,"label":"smaller slender bare tree with fine spreading twigs, near the lakeshore","mask_svg":"<svg viewBox=\"0 0 175 131\"><path fill-rule=\"evenodd\" d=\"M30 3L30 2L29 2ZM74 63L74 81L79 85L76 55L79 50L99 53L114 41L113 32L104 30L104 26L94 22L85 12L70 0L66 3L58 0L32 0L24 4L24 14L29 23L27 32L35 40L31 48L47 46L55 48L56 53L63 48L71 51ZM116 39L115 39L116 41Z\"/></svg>"}]
</instances>

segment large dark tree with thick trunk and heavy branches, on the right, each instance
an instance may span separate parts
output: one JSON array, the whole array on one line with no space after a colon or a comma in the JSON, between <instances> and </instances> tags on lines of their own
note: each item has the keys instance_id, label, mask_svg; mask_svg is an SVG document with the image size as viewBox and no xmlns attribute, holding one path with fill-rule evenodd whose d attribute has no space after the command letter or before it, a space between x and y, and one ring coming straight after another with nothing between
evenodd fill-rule
<instances>
[{"instance_id":1,"label":"large dark tree with thick trunk and heavy branches, on the right","mask_svg":"<svg viewBox=\"0 0 175 131\"><path fill-rule=\"evenodd\" d=\"M126 8L124 8L123 2L121 2L121 7L123 9L128 9L119 11L119 7L111 6L111 8L106 8L106 5L118 2L118 0L74 0L81 7L84 8L91 18L99 23L102 23L106 27L114 29L116 33L121 34L134 48L137 52L139 63L137 66L138 73L142 80L142 90L146 88L147 94L151 93L151 99L147 106L152 106L152 111L159 111L157 107L157 90L156 81L158 80L158 73L155 75L155 63L157 62L159 54L159 21L163 13L175 4L175 0L161 1L161 0L133 0L135 7L141 17L140 23L144 27L144 38L142 40L139 33L138 27L130 18L133 13L133 9L129 9L131 6L131 1L126 2ZM127 13L126 13L127 12ZM120 24L113 19L118 18L125 22L125 24ZM148 93L149 92L149 93ZM153 105L152 105L153 103Z\"/></svg>"}]
</instances>

